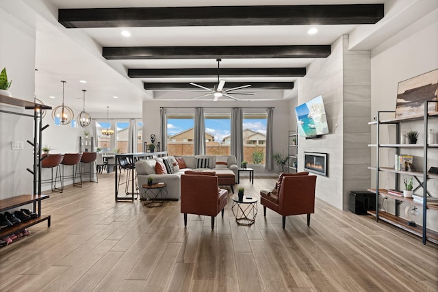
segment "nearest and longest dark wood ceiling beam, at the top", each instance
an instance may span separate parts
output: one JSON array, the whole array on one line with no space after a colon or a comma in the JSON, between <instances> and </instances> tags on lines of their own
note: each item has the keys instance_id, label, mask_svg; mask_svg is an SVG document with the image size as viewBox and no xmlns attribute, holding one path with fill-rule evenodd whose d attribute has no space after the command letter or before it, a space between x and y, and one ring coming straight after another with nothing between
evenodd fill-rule
<instances>
[{"instance_id":1,"label":"nearest and longest dark wood ceiling beam, at the top","mask_svg":"<svg viewBox=\"0 0 438 292\"><path fill-rule=\"evenodd\" d=\"M68 28L374 24L383 4L60 9Z\"/></svg>"}]
</instances>

